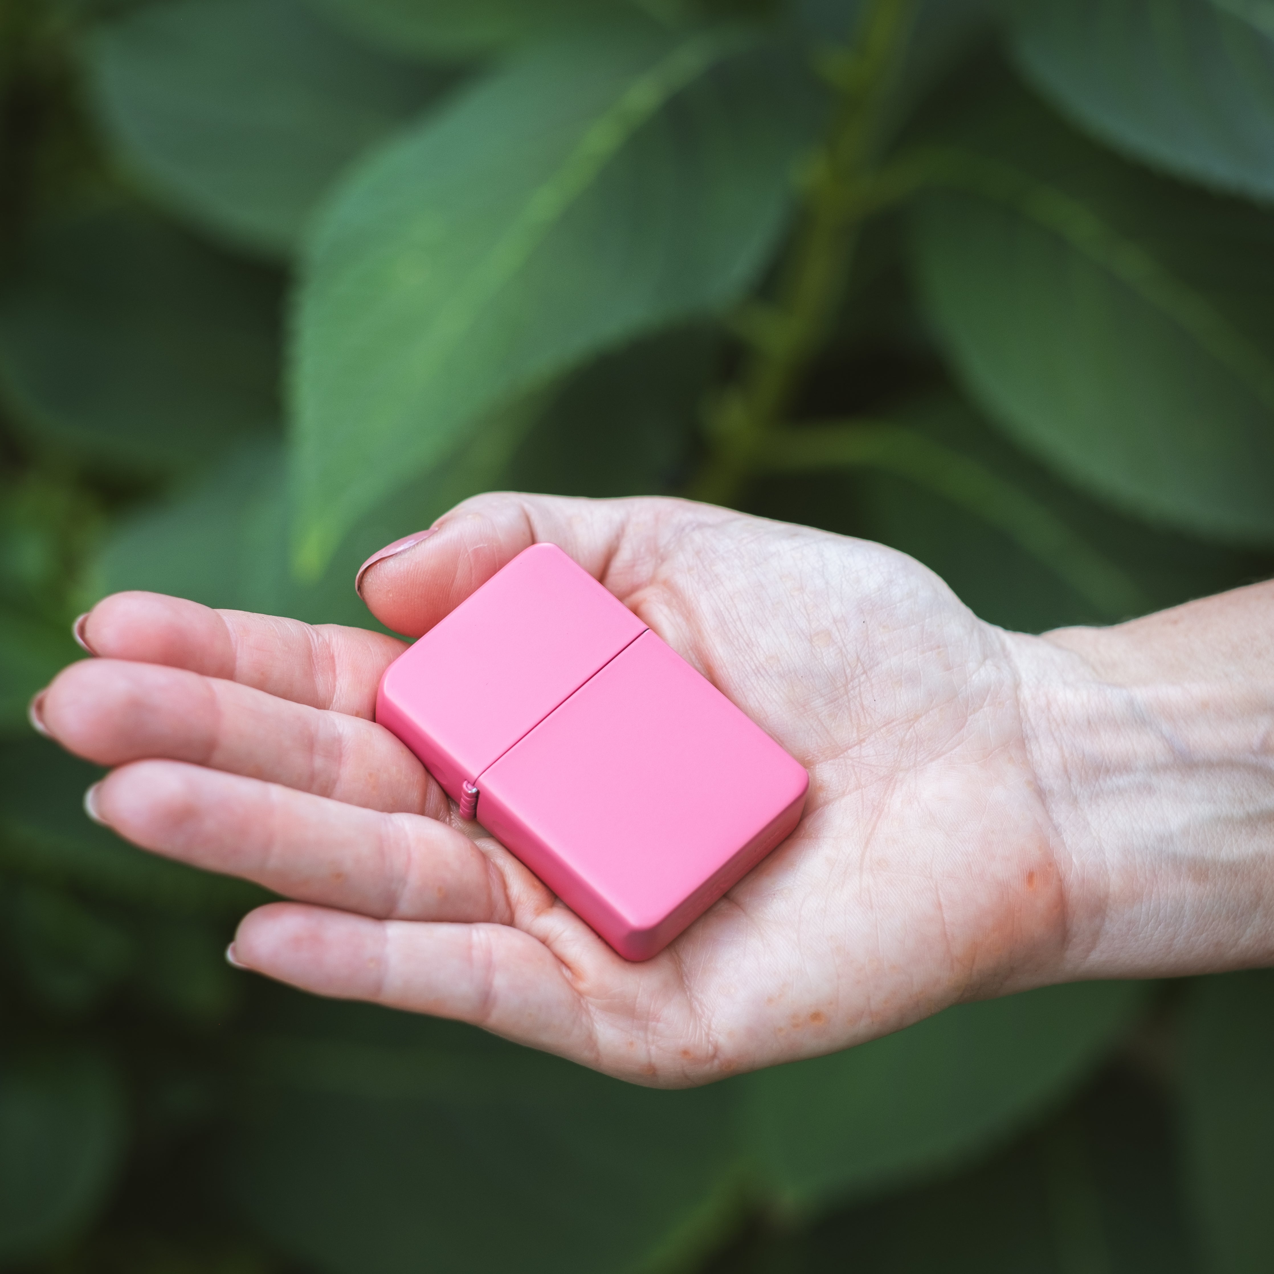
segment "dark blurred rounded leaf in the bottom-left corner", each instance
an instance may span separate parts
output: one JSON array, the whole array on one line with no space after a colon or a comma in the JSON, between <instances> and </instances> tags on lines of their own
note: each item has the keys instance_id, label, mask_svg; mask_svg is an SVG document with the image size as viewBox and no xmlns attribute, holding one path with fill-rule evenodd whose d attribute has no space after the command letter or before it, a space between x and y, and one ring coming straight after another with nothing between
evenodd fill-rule
<instances>
[{"instance_id":1,"label":"dark blurred rounded leaf in the bottom-left corner","mask_svg":"<svg viewBox=\"0 0 1274 1274\"><path fill-rule=\"evenodd\" d=\"M0 1261L41 1256L93 1222L125 1135L120 1082L97 1054L0 1063Z\"/></svg>"}]
</instances>

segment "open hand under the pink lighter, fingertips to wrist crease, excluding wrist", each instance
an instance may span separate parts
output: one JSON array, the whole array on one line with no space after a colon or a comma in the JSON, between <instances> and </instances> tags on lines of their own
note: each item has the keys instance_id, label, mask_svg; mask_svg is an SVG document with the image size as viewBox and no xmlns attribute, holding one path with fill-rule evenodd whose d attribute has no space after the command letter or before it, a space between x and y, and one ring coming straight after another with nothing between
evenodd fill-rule
<instances>
[{"instance_id":1,"label":"open hand under the pink lighter, fingertips to wrist crease, excluding wrist","mask_svg":"<svg viewBox=\"0 0 1274 1274\"><path fill-rule=\"evenodd\" d=\"M243 920L242 964L628 1079L702 1083L1057 976L1066 862L1018 694L1033 638L899 553L664 499L478 497L376 563L363 595L419 634L544 540L810 773L796 832L646 963L373 724L390 637L120 594L82 626L99 657L37 716L117 767L90 806L121 836L294 899Z\"/></svg>"}]
</instances>

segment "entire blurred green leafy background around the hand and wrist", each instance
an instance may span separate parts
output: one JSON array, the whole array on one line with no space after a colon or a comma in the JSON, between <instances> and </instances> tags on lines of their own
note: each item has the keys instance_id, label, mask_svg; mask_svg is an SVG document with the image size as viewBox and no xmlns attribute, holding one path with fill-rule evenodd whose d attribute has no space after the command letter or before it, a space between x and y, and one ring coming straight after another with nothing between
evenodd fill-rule
<instances>
[{"instance_id":1,"label":"entire blurred green leafy background around the hand and wrist","mask_svg":"<svg viewBox=\"0 0 1274 1274\"><path fill-rule=\"evenodd\" d=\"M648 1092L222 952L31 694L107 591L371 623L482 489L981 615L1274 571L1270 0L0 0L0 1266L1274 1269L1274 975Z\"/></svg>"}]
</instances>

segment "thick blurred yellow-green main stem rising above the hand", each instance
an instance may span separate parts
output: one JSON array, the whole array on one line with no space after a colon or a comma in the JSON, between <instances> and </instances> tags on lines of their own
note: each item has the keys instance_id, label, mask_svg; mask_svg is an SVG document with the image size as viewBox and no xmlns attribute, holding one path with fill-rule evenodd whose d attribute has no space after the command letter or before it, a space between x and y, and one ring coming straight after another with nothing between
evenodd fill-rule
<instances>
[{"instance_id":1,"label":"thick blurred yellow-green main stem rising above the hand","mask_svg":"<svg viewBox=\"0 0 1274 1274\"><path fill-rule=\"evenodd\" d=\"M866 214L880 120L906 48L915 0L871 0L847 48L820 60L838 90L828 136L805 178L805 217L772 304L739 326L752 344L739 381L708 412L710 454L689 494L731 503L764 434L791 410L836 313Z\"/></svg>"}]
</instances>

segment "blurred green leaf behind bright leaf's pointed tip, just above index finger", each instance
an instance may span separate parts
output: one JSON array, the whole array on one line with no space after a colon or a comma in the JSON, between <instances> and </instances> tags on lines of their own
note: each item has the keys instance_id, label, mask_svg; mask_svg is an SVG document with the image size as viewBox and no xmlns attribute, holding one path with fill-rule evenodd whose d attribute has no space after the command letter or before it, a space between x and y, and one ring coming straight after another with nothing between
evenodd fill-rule
<instances>
[{"instance_id":1,"label":"blurred green leaf behind bright leaf's pointed tip, just above index finger","mask_svg":"<svg viewBox=\"0 0 1274 1274\"><path fill-rule=\"evenodd\" d=\"M497 485L538 409L539 401L530 399L487 420L446 464L358 522L310 583L288 568L284 446L246 443L201 484L122 522L97 558L93 592L145 589L208 606L375 627L354 592L359 564L465 497Z\"/></svg>"}]
</instances>

